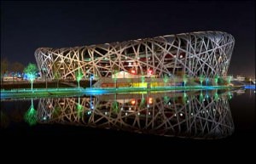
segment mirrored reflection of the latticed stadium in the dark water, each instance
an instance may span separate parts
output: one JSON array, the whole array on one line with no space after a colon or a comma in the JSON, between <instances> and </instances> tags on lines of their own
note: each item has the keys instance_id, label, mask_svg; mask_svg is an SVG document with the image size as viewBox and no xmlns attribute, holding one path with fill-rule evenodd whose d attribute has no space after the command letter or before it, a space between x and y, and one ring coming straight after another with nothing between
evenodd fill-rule
<instances>
[{"instance_id":1,"label":"mirrored reflection of the latticed stadium in the dark water","mask_svg":"<svg viewBox=\"0 0 256 164\"><path fill-rule=\"evenodd\" d=\"M39 123L119 129L191 139L234 132L228 92L109 94L39 99Z\"/></svg>"}]
</instances>

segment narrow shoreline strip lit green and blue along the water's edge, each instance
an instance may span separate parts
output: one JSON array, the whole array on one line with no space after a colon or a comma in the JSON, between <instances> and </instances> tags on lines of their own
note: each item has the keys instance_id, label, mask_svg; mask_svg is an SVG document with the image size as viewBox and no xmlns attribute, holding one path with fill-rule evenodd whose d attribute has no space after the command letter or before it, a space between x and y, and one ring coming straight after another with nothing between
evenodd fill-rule
<instances>
[{"instance_id":1,"label":"narrow shoreline strip lit green and blue along the water's edge","mask_svg":"<svg viewBox=\"0 0 256 164\"><path fill-rule=\"evenodd\" d=\"M83 96L98 95L108 93L135 93L135 92L170 92L170 91L202 91L214 89L236 89L242 86L169 86L155 88L15 88L11 90L1 89L1 99L12 98L38 98L38 97L58 97L58 96Z\"/></svg>"}]
</instances>

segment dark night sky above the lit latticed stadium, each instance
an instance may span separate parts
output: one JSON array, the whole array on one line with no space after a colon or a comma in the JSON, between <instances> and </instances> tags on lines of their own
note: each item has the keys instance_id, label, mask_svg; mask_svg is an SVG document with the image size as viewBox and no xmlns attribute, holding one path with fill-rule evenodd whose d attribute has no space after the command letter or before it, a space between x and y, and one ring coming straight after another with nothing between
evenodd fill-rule
<instances>
[{"instance_id":1,"label":"dark night sky above the lit latticed stadium","mask_svg":"<svg viewBox=\"0 0 256 164\"><path fill-rule=\"evenodd\" d=\"M1 58L36 63L40 47L63 48L191 31L236 39L230 75L255 76L253 1L1 2Z\"/></svg>"}]
</instances>

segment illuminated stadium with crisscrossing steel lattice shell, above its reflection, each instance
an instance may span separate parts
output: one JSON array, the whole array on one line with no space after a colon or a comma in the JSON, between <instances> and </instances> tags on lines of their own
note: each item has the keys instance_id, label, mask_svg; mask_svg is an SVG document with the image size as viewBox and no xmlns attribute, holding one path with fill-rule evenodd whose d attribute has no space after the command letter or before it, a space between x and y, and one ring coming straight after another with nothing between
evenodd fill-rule
<instances>
[{"instance_id":1,"label":"illuminated stadium with crisscrossing steel lattice shell, above its reflection","mask_svg":"<svg viewBox=\"0 0 256 164\"><path fill-rule=\"evenodd\" d=\"M200 31L74 48L38 48L39 71L49 79L141 79L227 76L235 39Z\"/></svg>"}]
</instances>

